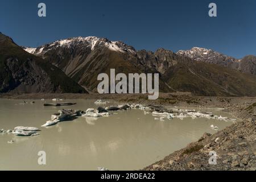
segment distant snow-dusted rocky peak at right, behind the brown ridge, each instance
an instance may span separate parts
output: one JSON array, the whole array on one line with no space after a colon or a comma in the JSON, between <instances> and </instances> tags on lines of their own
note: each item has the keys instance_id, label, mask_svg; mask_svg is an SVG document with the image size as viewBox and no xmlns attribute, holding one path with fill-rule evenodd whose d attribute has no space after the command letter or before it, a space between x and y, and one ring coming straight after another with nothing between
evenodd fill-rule
<instances>
[{"instance_id":1,"label":"distant snow-dusted rocky peak at right, behind the brown ridge","mask_svg":"<svg viewBox=\"0 0 256 182\"><path fill-rule=\"evenodd\" d=\"M230 64L238 62L237 59L231 56L226 56L222 53L213 51L212 49L193 47L187 51L178 51L177 54L187 56L196 61L204 61L210 64L221 64L229 67Z\"/></svg>"}]
</instances>

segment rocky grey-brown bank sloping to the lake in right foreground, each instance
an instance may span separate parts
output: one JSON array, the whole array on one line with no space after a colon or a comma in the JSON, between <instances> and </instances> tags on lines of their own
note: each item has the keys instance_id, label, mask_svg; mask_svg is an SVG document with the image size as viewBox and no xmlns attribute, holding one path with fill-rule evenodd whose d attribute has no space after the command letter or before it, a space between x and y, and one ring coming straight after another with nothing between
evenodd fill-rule
<instances>
[{"instance_id":1,"label":"rocky grey-brown bank sloping to the lake in right foreground","mask_svg":"<svg viewBox=\"0 0 256 182\"><path fill-rule=\"evenodd\" d=\"M209 98L204 98L209 100ZM147 171L170 170L256 170L256 101L255 98L214 98L214 106L223 107L238 118L216 134L205 133L197 142L176 151L144 168ZM218 101L218 102L216 102ZM210 164L211 156L216 164Z\"/></svg>"}]
</instances>

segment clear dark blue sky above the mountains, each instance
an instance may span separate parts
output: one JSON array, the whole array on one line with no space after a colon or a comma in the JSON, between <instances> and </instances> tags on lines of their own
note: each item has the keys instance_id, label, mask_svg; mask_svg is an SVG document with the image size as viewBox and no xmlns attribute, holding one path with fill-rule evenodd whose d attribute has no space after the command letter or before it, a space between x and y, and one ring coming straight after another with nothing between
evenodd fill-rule
<instances>
[{"instance_id":1,"label":"clear dark blue sky above the mountains","mask_svg":"<svg viewBox=\"0 0 256 182\"><path fill-rule=\"evenodd\" d=\"M73 36L121 40L136 49L205 47L237 58L256 55L255 0L0 0L0 31L20 46ZM38 3L47 17L38 17ZM217 18L208 16L210 2Z\"/></svg>"}]
</instances>

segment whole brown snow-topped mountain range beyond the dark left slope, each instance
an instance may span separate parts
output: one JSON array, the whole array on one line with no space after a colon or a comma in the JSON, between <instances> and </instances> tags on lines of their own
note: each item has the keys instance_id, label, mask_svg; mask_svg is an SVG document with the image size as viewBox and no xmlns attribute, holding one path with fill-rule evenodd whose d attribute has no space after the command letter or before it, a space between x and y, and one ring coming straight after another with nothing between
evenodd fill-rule
<instances>
[{"instance_id":1,"label":"whole brown snow-topped mountain range beyond the dark left slope","mask_svg":"<svg viewBox=\"0 0 256 182\"><path fill-rule=\"evenodd\" d=\"M242 61L200 49L204 59L200 56L191 58L188 53L174 53L162 48L156 52L136 51L125 43L97 37L69 38L39 48L24 49L59 67L90 90L96 90L98 74L109 75L110 69L115 68L116 74L159 73L162 92L192 92L199 96L256 96L256 76L241 73L254 72L251 69L255 61L253 56ZM211 57L212 60L209 59ZM247 60L252 63L244 64Z\"/></svg>"}]
</instances>

